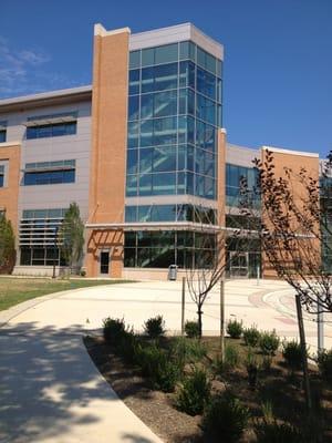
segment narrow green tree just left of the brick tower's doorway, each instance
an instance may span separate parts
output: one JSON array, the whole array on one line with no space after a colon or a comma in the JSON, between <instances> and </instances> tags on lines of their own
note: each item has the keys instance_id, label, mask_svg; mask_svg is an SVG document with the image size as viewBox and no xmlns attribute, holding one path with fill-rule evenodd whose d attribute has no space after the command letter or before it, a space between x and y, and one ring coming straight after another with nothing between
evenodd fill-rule
<instances>
[{"instance_id":1,"label":"narrow green tree just left of the brick tower's doorway","mask_svg":"<svg viewBox=\"0 0 332 443\"><path fill-rule=\"evenodd\" d=\"M60 227L58 241L60 253L72 268L79 266L83 256L84 224L76 203L71 203Z\"/></svg>"}]
</instances>

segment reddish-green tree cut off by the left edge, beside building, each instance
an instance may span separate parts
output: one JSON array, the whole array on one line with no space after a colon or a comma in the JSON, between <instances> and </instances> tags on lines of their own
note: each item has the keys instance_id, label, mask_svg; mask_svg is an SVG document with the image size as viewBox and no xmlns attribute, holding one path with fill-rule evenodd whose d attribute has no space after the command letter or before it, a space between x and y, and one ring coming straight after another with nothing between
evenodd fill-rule
<instances>
[{"instance_id":1,"label":"reddish-green tree cut off by the left edge, beside building","mask_svg":"<svg viewBox=\"0 0 332 443\"><path fill-rule=\"evenodd\" d=\"M11 222L0 215L0 274L10 274L15 262L15 238Z\"/></svg>"}]
</instances>

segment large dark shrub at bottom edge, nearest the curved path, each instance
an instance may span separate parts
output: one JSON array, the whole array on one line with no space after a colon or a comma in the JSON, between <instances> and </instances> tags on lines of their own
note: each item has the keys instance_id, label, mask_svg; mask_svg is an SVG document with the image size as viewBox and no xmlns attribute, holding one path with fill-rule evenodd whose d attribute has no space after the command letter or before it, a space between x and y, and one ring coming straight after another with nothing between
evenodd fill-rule
<instances>
[{"instance_id":1,"label":"large dark shrub at bottom edge, nearest the curved path","mask_svg":"<svg viewBox=\"0 0 332 443\"><path fill-rule=\"evenodd\" d=\"M249 410L229 391L207 404L203 429L208 442L239 442L249 420Z\"/></svg>"}]
</instances>

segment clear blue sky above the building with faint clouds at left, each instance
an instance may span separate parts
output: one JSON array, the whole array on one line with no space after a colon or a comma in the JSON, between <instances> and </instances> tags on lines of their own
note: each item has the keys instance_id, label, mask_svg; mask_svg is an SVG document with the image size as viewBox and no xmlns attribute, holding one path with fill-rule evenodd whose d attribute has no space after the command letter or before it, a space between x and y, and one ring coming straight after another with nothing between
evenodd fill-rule
<instances>
[{"instance_id":1,"label":"clear blue sky above the building with faint clouds at left","mask_svg":"<svg viewBox=\"0 0 332 443\"><path fill-rule=\"evenodd\" d=\"M225 47L230 143L332 150L332 0L0 0L0 100L91 84L94 23L188 21Z\"/></svg>"}]
</instances>

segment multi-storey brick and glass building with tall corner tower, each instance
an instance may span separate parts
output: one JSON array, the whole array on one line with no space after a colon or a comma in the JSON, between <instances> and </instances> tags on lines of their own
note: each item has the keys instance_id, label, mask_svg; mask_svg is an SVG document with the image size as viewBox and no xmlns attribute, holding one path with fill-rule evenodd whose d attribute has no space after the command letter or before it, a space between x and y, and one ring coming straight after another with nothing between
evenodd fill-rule
<instances>
[{"instance_id":1,"label":"multi-storey brick and glass building with tall corner tower","mask_svg":"<svg viewBox=\"0 0 332 443\"><path fill-rule=\"evenodd\" d=\"M55 235L71 202L86 227L87 276L164 278L172 264L210 261L216 231L241 222L239 181L253 185L264 151L227 143L222 61L222 45L190 23L136 34L96 24L92 85L0 101L14 274L63 265ZM319 168L318 154L272 151L280 166ZM242 248L229 272L268 275L257 241Z\"/></svg>"}]
</instances>

